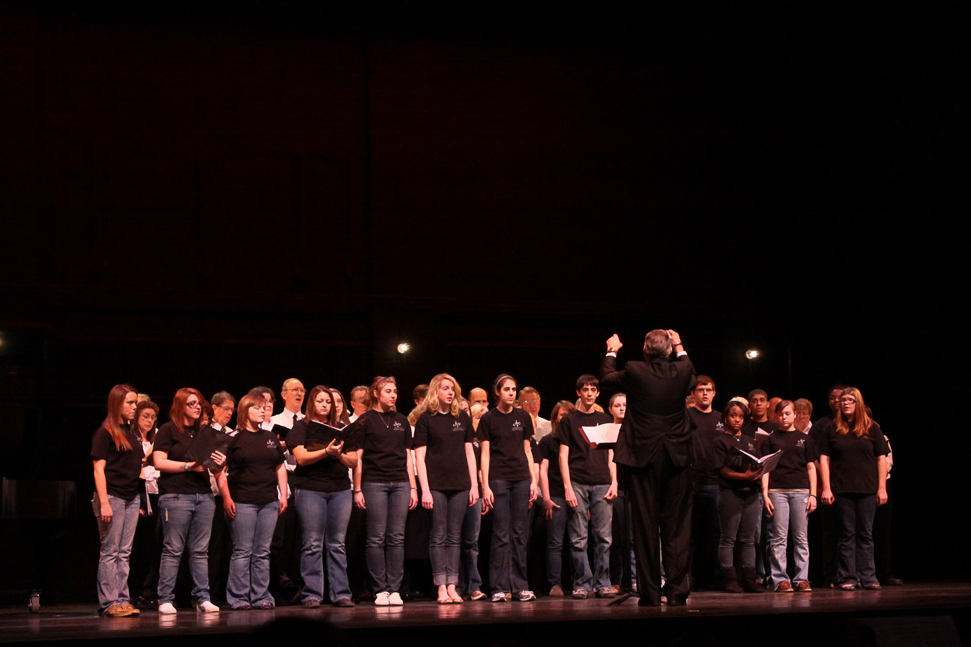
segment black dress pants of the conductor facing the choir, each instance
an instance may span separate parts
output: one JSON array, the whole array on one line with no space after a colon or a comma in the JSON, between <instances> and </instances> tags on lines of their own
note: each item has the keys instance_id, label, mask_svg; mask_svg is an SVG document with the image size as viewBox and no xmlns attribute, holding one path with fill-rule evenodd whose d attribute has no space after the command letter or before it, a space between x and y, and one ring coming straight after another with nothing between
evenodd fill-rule
<instances>
[{"instance_id":1,"label":"black dress pants of the conductor facing the choir","mask_svg":"<svg viewBox=\"0 0 971 647\"><path fill-rule=\"evenodd\" d=\"M630 507L637 558L637 590L650 604L661 601L663 554L668 599L685 599L690 592L688 566L691 542L691 477L664 452L664 458L645 467L628 467ZM658 543L658 535L660 542Z\"/></svg>"}]
</instances>

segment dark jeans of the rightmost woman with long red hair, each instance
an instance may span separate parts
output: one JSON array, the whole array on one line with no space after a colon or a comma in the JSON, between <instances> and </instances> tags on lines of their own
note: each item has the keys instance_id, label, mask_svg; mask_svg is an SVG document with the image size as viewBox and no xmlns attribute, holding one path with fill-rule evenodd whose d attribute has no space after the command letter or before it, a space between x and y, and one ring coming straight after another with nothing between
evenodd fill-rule
<instances>
[{"instance_id":1,"label":"dark jeans of the rightmost woman with long red hair","mask_svg":"<svg viewBox=\"0 0 971 647\"><path fill-rule=\"evenodd\" d=\"M840 562L836 575L840 586L857 582L864 587L880 584L873 560L873 517L876 494L837 494L833 501Z\"/></svg>"}]
</instances>

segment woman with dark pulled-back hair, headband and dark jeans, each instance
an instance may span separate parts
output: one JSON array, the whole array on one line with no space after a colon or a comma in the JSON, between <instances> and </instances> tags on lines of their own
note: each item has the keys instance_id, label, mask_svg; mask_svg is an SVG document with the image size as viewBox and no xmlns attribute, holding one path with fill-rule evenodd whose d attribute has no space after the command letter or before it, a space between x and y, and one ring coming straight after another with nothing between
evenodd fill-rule
<instances>
[{"instance_id":1,"label":"woman with dark pulled-back hair, headband and dark jeans","mask_svg":"<svg viewBox=\"0 0 971 647\"><path fill-rule=\"evenodd\" d=\"M526 587L526 519L539 488L530 440L533 420L513 406L516 380L503 373L492 384L496 408L479 423L482 438L483 499L493 509L488 563L492 601L506 594L525 602L536 599Z\"/></svg>"}]
</instances>

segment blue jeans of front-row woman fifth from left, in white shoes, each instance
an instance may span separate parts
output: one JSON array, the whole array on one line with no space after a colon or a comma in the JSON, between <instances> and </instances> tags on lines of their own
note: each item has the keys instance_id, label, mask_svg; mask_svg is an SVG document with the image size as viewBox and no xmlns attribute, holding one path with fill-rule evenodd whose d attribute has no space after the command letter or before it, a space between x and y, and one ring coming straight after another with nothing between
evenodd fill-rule
<instances>
[{"instance_id":1,"label":"blue jeans of front-row woman fifth from left, in white shoes","mask_svg":"<svg viewBox=\"0 0 971 647\"><path fill-rule=\"evenodd\" d=\"M408 520L408 481L362 483L364 494L364 560L371 591L395 593L405 572L405 522Z\"/></svg>"}]
</instances>

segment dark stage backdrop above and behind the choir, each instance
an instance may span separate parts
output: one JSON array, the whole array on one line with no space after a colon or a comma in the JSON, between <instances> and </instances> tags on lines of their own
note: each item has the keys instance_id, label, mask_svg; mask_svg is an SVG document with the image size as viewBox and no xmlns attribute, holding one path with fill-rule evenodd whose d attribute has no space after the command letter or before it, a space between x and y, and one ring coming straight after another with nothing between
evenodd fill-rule
<instances>
[{"instance_id":1,"label":"dark stage backdrop above and behind the choir","mask_svg":"<svg viewBox=\"0 0 971 647\"><path fill-rule=\"evenodd\" d=\"M164 419L184 386L391 373L404 404L508 371L546 414L653 327L717 406L758 387L819 417L858 385L895 450L898 574L971 575L922 531L964 480L936 400L971 39L965 7L895 11L5 5L0 467L78 494L4 521L0 550L35 552L0 590L93 598L86 457L117 382Z\"/></svg>"}]
</instances>

